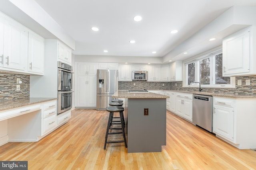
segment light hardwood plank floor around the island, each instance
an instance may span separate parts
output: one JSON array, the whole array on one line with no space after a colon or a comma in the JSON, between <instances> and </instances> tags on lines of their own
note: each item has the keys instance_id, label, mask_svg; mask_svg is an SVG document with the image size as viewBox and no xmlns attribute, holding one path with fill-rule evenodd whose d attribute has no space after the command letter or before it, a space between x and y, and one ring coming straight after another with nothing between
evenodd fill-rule
<instances>
[{"instance_id":1,"label":"light hardwood plank floor around the island","mask_svg":"<svg viewBox=\"0 0 256 170\"><path fill-rule=\"evenodd\" d=\"M75 109L68 123L36 143L2 145L0 160L27 160L29 170L256 169L253 150L236 149L170 112L162 152L127 153L124 143L104 150L107 121L106 111Z\"/></svg>"}]
</instances>

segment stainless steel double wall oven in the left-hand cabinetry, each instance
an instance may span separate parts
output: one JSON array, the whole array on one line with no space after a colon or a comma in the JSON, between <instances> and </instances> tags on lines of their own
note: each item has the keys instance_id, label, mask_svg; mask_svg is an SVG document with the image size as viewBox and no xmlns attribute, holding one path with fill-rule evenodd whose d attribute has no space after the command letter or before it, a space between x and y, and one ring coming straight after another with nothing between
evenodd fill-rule
<instances>
[{"instance_id":1,"label":"stainless steel double wall oven in the left-hand cabinetry","mask_svg":"<svg viewBox=\"0 0 256 170\"><path fill-rule=\"evenodd\" d=\"M58 62L58 114L72 107L72 66Z\"/></svg>"}]
</instances>

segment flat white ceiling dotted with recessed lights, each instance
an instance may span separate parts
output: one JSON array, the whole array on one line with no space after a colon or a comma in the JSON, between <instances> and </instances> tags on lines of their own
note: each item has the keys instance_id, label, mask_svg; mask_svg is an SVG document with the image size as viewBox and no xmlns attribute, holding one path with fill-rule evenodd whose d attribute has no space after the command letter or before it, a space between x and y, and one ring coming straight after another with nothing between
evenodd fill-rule
<instances>
[{"instance_id":1,"label":"flat white ceiling dotted with recessed lights","mask_svg":"<svg viewBox=\"0 0 256 170\"><path fill-rule=\"evenodd\" d=\"M75 55L144 57L165 56L232 6L256 6L256 0L35 1L74 39ZM133 21L136 15L142 21Z\"/></svg>"}]
</instances>

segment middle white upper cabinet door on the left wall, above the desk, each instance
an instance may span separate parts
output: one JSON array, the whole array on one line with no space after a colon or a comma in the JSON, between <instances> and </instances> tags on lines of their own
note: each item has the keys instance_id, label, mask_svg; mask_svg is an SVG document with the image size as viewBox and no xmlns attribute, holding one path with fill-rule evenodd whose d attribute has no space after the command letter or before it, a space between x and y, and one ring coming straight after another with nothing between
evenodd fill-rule
<instances>
[{"instance_id":1,"label":"middle white upper cabinet door on the left wall, above the desk","mask_svg":"<svg viewBox=\"0 0 256 170\"><path fill-rule=\"evenodd\" d=\"M3 67L26 70L28 61L28 29L16 21L4 20Z\"/></svg>"}]
</instances>

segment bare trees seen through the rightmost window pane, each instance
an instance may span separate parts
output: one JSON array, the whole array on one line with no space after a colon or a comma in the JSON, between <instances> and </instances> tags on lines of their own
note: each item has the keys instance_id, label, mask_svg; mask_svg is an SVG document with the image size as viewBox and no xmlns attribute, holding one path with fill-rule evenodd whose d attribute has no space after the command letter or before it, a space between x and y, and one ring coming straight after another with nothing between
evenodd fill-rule
<instances>
[{"instance_id":1,"label":"bare trees seen through the rightmost window pane","mask_svg":"<svg viewBox=\"0 0 256 170\"><path fill-rule=\"evenodd\" d=\"M230 77L222 77L222 53L215 56L215 84L230 84Z\"/></svg>"}]
</instances>

